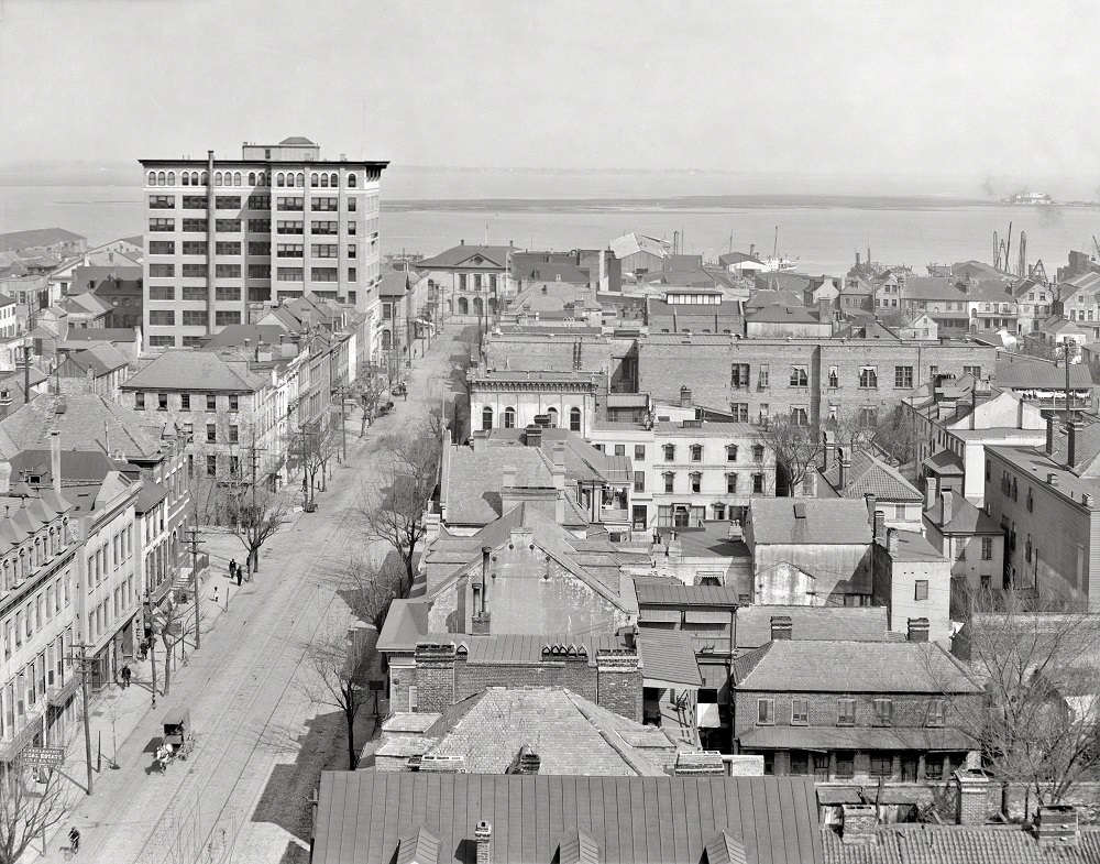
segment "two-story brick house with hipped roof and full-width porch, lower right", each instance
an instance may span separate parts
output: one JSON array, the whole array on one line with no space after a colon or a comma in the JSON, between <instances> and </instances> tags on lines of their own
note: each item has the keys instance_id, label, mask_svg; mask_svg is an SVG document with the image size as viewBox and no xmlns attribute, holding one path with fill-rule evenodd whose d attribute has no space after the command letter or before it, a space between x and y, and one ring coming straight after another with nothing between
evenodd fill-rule
<instances>
[{"instance_id":1,"label":"two-story brick house with hipped roof and full-width porch, lower right","mask_svg":"<svg viewBox=\"0 0 1100 864\"><path fill-rule=\"evenodd\" d=\"M968 764L978 744L959 715L981 688L912 623L906 642L795 641L773 617L772 641L733 665L738 751L762 754L766 774L865 785L938 783Z\"/></svg>"}]
</instances>

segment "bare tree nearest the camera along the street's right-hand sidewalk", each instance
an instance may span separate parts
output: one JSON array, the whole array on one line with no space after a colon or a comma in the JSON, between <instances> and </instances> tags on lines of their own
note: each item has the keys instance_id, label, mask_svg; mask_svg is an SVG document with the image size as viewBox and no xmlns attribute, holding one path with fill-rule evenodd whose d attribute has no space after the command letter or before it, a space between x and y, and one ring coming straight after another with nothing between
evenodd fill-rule
<instances>
[{"instance_id":1,"label":"bare tree nearest the camera along the street's right-hand sidewalk","mask_svg":"<svg viewBox=\"0 0 1100 864\"><path fill-rule=\"evenodd\" d=\"M348 735L348 769L354 770L359 764L355 715L366 701L377 634L359 627L342 633L333 626L329 632L327 638L312 642L308 648L314 677L307 690L315 702L332 706L343 714Z\"/></svg>"}]
</instances>

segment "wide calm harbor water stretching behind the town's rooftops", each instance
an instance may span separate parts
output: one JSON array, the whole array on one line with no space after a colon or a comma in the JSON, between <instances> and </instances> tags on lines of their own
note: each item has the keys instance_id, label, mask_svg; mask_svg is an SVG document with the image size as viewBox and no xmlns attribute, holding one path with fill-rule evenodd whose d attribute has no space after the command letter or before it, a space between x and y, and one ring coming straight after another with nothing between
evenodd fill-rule
<instances>
[{"instance_id":1,"label":"wide calm harbor water stretching behind the town's rooftops","mask_svg":"<svg viewBox=\"0 0 1100 864\"><path fill-rule=\"evenodd\" d=\"M0 232L57 226L92 244L143 230L138 185L0 186ZM435 254L460 240L520 248L601 248L627 231L669 240L707 256L730 248L770 254L779 228L781 254L809 273L845 273L868 244L876 261L909 264L992 259L993 231L1027 233L1027 260L1043 259L1054 275L1069 249L1091 251L1100 208L1008 207L950 199L822 195L736 200L678 200L704 194L744 194L728 176L619 173L393 171L383 184L382 247ZM485 200L504 199L509 200ZM644 201L630 200L645 198ZM659 200L663 199L663 200ZM386 204L388 201L388 206Z\"/></svg>"}]
</instances>

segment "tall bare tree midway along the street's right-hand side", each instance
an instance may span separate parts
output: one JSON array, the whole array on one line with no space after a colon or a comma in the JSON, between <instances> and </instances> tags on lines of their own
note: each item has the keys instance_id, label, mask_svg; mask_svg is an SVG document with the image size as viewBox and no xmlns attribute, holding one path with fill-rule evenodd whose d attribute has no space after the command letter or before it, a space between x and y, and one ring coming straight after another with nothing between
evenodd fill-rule
<instances>
[{"instance_id":1,"label":"tall bare tree midway along the street's right-hand side","mask_svg":"<svg viewBox=\"0 0 1100 864\"><path fill-rule=\"evenodd\" d=\"M387 435L381 444L383 464L362 488L359 512L367 536L397 553L411 582L425 510L436 489L440 441L421 427L411 435Z\"/></svg>"}]
</instances>

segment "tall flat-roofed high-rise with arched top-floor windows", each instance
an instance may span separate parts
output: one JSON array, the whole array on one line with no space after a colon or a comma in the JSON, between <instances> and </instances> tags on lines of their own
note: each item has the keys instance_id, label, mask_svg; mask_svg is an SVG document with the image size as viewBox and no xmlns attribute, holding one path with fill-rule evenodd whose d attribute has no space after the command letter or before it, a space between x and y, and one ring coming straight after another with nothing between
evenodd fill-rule
<instances>
[{"instance_id":1,"label":"tall flat-roofed high-rise with arched top-floor windows","mask_svg":"<svg viewBox=\"0 0 1100 864\"><path fill-rule=\"evenodd\" d=\"M205 160L141 164L147 347L197 347L308 293L377 317L388 162L326 161L317 144L288 138L246 143L239 160L210 151Z\"/></svg>"}]
</instances>

